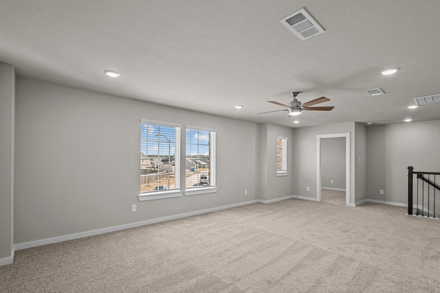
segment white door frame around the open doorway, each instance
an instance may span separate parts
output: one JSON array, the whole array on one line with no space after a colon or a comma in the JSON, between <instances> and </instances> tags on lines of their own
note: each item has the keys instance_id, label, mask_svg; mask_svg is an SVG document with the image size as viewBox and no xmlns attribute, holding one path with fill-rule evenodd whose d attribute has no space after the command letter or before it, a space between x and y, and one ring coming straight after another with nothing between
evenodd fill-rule
<instances>
[{"instance_id":1,"label":"white door frame around the open doorway","mask_svg":"<svg viewBox=\"0 0 440 293\"><path fill-rule=\"evenodd\" d=\"M345 203L350 205L350 132L316 135L316 200L322 200L321 195L321 139L345 137Z\"/></svg>"}]
</instances>

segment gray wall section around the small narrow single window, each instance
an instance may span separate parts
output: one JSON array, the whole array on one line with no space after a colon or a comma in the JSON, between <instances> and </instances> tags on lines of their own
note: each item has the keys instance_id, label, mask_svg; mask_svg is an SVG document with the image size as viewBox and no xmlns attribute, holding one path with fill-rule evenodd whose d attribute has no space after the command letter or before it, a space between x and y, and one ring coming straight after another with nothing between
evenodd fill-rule
<instances>
[{"instance_id":1,"label":"gray wall section around the small narrow single window","mask_svg":"<svg viewBox=\"0 0 440 293\"><path fill-rule=\"evenodd\" d=\"M259 199L274 200L292 196L294 174L298 172L294 162L293 129L274 124L261 124L259 130ZM276 139L287 137L287 176L276 176Z\"/></svg>"}]
</instances>

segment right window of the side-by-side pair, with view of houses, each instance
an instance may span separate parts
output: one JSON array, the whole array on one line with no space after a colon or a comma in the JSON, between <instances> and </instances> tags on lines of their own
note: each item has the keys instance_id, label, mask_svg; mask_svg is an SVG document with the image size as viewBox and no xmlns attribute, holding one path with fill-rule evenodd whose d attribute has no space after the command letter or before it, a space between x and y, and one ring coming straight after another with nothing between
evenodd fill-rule
<instances>
[{"instance_id":1,"label":"right window of the side-by-side pair, with view of houses","mask_svg":"<svg viewBox=\"0 0 440 293\"><path fill-rule=\"evenodd\" d=\"M186 128L186 195L202 193L191 193L188 189L201 189L203 193L217 191L206 189L215 187L215 134L216 130Z\"/></svg>"}]
</instances>

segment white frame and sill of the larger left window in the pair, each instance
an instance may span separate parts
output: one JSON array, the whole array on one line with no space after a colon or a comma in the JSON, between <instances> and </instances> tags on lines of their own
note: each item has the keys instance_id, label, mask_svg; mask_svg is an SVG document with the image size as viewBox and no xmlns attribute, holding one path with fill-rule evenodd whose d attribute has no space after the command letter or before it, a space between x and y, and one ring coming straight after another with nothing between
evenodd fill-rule
<instances>
[{"instance_id":1,"label":"white frame and sill of the larger left window in the pair","mask_svg":"<svg viewBox=\"0 0 440 293\"><path fill-rule=\"evenodd\" d=\"M140 201L144 200L157 200L162 198L176 198L179 196L182 196L183 191L180 189L180 143L181 143L181 124L173 124L169 122L163 122L163 121L153 121L153 120L147 120L147 119L141 119L140 120L140 126L142 132L142 124L149 124L154 126L162 126L162 127L173 127L175 128L175 188L171 190L164 190L164 191L149 191L141 193L137 196ZM142 133L141 133L141 143L142 145ZM140 150L142 152L142 149ZM142 160L142 159L141 159ZM140 178L140 176L139 176ZM139 183L140 186L140 183Z\"/></svg>"}]
</instances>

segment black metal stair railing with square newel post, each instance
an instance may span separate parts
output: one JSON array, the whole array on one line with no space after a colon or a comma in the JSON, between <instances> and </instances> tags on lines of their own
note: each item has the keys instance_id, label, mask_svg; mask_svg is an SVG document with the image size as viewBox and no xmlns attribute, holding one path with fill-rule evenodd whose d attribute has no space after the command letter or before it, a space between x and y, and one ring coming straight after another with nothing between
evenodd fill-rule
<instances>
[{"instance_id":1,"label":"black metal stair railing with square newel post","mask_svg":"<svg viewBox=\"0 0 440 293\"><path fill-rule=\"evenodd\" d=\"M413 184L414 175L416 186ZM440 198L437 198L440 196L440 185L437 184L440 180L437 176L440 172L417 172L414 167L408 166L408 215L413 215L413 209L416 209L416 215L440 219ZM415 193L414 187L417 189Z\"/></svg>"}]
</instances>

